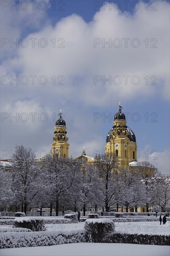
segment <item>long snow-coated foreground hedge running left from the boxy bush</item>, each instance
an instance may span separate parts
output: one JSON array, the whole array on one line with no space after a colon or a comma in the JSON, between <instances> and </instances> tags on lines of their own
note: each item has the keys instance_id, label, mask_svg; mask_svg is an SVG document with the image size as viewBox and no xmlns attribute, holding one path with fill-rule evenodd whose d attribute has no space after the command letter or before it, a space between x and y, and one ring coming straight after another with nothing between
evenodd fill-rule
<instances>
[{"instance_id":1,"label":"long snow-coated foreground hedge running left from the boxy bush","mask_svg":"<svg viewBox=\"0 0 170 256\"><path fill-rule=\"evenodd\" d=\"M29 232L27 234L11 235L4 233L0 240L0 249L16 247L50 246L63 243L85 242L85 232L65 232L53 234L53 232Z\"/></svg>"}]
</instances>

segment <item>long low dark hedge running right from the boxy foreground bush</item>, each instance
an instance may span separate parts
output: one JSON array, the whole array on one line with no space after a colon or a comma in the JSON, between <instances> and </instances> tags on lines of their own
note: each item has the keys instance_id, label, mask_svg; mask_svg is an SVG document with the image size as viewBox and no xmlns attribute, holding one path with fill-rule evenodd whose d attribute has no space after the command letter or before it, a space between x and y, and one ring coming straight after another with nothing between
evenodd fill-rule
<instances>
[{"instance_id":1,"label":"long low dark hedge running right from the boxy foreground bush","mask_svg":"<svg viewBox=\"0 0 170 256\"><path fill-rule=\"evenodd\" d=\"M115 233L111 235L110 240L107 243L170 245L170 236Z\"/></svg>"}]
</instances>

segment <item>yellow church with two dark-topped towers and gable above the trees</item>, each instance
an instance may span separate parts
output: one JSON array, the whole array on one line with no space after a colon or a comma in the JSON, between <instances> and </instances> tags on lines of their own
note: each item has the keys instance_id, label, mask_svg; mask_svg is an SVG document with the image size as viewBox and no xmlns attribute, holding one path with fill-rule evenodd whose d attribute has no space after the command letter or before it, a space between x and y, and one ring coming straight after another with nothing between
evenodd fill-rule
<instances>
[{"instance_id":1,"label":"yellow church with two dark-topped towers and gable above the trees","mask_svg":"<svg viewBox=\"0 0 170 256\"><path fill-rule=\"evenodd\" d=\"M69 158L69 143L66 136L66 124L62 119L60 109L59 120L54 127L54 137L52 143L52 154L59 154L59 157ZM136 137L131 128L126 126L126 118L122 113L122 106L119 102L118 113L114 116L113 127L106 136L105 155L118 155L121 168L129 169L130 166L137 163L137 143ZM80 160L84 158L87 162L94 162L93 157L85 154L85 148L81 155L75 158Z\"/></svg>"}]
</instances>

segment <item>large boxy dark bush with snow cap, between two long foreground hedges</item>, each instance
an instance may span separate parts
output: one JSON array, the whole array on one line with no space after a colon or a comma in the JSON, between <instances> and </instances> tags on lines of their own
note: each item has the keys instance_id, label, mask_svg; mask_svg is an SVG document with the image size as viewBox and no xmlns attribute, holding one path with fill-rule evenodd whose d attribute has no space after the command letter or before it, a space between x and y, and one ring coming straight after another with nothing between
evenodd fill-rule
<instances>
[{"instance_id":1,"label":"large boxy dark bush with snow cap, between two long foreground hedges","mask_svg":"<svg viewBox=\"0 0 170 256\"><path fill-rule=\"evenodd\" d=\"M84 229L86 242L107 243L115 225L111 219L87 219Z\"/></svg>"}]
</instances>

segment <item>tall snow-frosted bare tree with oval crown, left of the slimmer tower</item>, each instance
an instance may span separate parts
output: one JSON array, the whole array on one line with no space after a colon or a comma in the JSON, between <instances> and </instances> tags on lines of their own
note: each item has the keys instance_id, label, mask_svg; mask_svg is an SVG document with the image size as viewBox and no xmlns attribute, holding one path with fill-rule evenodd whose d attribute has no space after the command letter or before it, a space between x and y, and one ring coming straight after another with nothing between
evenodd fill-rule
<instances>
[{"instance_id":1,"label":"tall snow-frosted bare tree with oval crown, left of the slimmer tower","mask_svg":"<svg viewBox=\"0 0 170 256\"><path fill-rule=\"evenodd\" d=\"M10 169L15 200L24 205L24 212L26 213L27 206L39 191L39 166L36 163L33 150L23 146L16 146Z\"/></svg>"}]
</instances>

